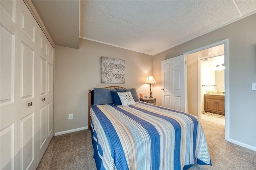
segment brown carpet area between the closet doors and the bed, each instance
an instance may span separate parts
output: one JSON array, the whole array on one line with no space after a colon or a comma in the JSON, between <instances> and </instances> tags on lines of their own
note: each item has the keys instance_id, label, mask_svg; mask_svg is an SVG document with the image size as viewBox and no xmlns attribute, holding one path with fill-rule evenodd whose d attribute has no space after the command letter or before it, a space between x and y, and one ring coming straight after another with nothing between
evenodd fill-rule
<instances>
[{"instance_id":1,"label":"brown carpet area between the closet doors and the bed","mask_svg":"<svg viewBox=\"0 0 256 170\"><path fill-rule=\"evenodd\" d=\"M53 137L37 170L96 170L91 132Z\"/></svg>"}]
</instances>

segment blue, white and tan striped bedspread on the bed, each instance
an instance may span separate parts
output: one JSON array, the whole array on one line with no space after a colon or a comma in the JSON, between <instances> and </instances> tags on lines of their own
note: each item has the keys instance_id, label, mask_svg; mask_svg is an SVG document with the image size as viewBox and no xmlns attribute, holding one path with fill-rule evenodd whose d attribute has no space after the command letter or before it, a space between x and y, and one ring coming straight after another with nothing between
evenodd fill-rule
<instances>
[{"instance_id":1,"label":"blue, white and tan striped bedspread on the bed","mask_svg":"<svg viewBox=\"0 0 256 170\"><path fill-rule=\"evenodd\" d=\"M92 140L106 170L183 170L210 164L198 118L145 102L91 107ZM95 156L95 155L94 155Z\"/></svg>"}]
</instances>

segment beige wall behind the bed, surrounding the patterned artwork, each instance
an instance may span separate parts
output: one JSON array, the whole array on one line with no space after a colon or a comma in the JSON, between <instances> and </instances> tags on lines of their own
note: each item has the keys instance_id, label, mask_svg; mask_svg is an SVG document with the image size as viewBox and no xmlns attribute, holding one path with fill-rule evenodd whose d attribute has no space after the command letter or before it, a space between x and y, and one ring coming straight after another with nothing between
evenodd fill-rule
<instances>
[{"instance_id":1,"label":"beige wall behind the bed, surrounding the patterned artwork","mask_svg":"<svg viewBox=\"0 0 256 170\"><path fill-rule=\"evenodd\" d=\"M125 60L125 83L101 83L101 58ZM88 126L88 90L94 87L136 88L149 96L143 84L153 73L153 57L110 45L80 39L80 49L56 46L54 77L54 133ZM152 92L154 95L154 91ZM68 114L73 119L68 120Z\"/></svg>"}]
</instances>

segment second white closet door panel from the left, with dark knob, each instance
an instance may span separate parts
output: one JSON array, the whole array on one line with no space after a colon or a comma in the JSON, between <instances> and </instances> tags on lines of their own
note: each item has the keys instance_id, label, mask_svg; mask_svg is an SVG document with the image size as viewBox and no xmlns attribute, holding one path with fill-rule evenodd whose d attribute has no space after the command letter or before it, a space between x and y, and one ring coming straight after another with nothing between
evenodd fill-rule
<instances>
[{"instance_id":1,"label":"second white closet door panel from the left, with dark knob","mask_svg":"<svg viewBox=\"0 0 256 170\"><path fill-rule=\"evenodd\" d=\"M18 166L36 169L36 78L38 24L23 1L18 11Z\"/></svg>"}]
</instances>

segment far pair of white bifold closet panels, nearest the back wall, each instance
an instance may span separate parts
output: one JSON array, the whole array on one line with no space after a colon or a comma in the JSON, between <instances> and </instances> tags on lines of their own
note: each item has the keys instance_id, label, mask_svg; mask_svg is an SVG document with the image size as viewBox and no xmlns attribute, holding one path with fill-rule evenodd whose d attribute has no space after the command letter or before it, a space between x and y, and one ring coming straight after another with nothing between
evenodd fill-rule
<instances>
[{"instance_id":1,"label":"far pair of white bifold closet panels, nearest the back wall","mask_svg":"<svg viewBox=\"0 0 256 170\"><path fill-rule=\"evenodd\" d=\"M53 137L53 47L42 31L38 42L38 161Z\"/></svg>"}]
</instances>

